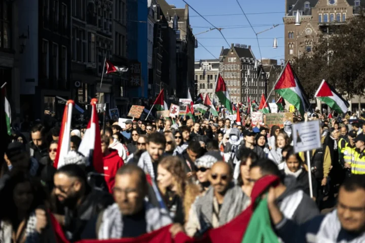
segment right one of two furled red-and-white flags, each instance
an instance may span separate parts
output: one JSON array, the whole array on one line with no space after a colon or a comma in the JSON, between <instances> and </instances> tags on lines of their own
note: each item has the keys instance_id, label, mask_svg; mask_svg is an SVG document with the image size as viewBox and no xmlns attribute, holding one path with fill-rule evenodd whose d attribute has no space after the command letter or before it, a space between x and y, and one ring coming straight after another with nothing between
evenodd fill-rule
<instances>
[{"instance_id":1,"label":"right one of two furled red-and-white flags","mask_svg":"<svg viewBox=\"0 0 365 243\"><path fill-rule=\"evenodd\" d=\"M92 150L92 163L94 170L98 173L103 174L104 168L102 163L103 155L101 152L100 127L99 118L96 111L97 102L97 99L91 99L91 118L86 128L84 138L81 141L79 152L82 153L85 157L89 157L90 150Z\"/></svg>"}]
</instances>

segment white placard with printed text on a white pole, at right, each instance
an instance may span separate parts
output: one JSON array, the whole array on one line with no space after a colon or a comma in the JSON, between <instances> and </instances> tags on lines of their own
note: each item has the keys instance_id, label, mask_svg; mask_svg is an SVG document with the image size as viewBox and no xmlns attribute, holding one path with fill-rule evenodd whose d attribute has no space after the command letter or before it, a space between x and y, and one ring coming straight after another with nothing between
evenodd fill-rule
<instances>
[{"instance_id":1,"label":"white placard with printed text on a white pole, at right","mask_svg":"<svg viewBox=\"0 0 365 243\"><path fill-rule=\"evenodd\" d=\"M311 151L321 148L319 120L293 124L294 152Z\"/></svg>"}]
</instances>

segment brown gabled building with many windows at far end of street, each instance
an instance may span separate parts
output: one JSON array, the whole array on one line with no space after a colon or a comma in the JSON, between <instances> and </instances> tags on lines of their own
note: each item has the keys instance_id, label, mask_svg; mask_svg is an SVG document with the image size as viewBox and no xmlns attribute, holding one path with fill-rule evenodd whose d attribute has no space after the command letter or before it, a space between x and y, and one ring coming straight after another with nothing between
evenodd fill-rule
<instances>
[{"instance_id":1,"label":"brown gabled building with many windows at far end of street","mask_svg":"<svg viewBox=\"0 0 365 243\"><path fill-rule=\"evenodd\" d=\"M269 87L266 73L260 68L260 62L254 57L250 46L232 44L230 49L222 47L220 73L233 103L247 104L249 98L259 104L262 94Z\"/></svg>"}]
</instances>

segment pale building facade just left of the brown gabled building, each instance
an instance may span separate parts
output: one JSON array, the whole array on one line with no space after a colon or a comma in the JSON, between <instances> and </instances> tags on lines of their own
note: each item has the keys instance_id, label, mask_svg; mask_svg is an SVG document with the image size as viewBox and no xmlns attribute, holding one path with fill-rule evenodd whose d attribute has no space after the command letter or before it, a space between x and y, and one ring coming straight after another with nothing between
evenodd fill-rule
<instances>
[{"instance_id":1,"label":"pale building facade just left of the brown gabled building","mask_svg":"<svg viewBox=\"0 0 365 243\"><path fill-rule=\"evenodd\" d=\"M195 80L197 82L197 92L203 98L208 94L211 99L217 100L215 95L215 80L220 67L219 59L202 60L195 62Z\"/></svg>"}]
</instances>

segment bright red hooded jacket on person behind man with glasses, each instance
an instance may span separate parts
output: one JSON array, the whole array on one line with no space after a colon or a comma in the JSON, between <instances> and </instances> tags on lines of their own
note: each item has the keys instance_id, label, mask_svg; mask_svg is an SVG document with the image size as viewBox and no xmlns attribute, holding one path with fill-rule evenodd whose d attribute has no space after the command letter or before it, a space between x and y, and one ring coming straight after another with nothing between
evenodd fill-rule
<instances>
[{"instance_id":1,"label":"bright red hooded jacket on person behind man with glasses","mask_svg":"<svg viewBox=\"0 0 365 243\"><path fill-rule=\"evenodd\" d=\"M117 150L109 149L109 151L111 153L103 157L103 168L106 185L109 192L112 193L117 171L124 165L124 161L121 157L119 157Z\"/></svg>"}]
</instances>

